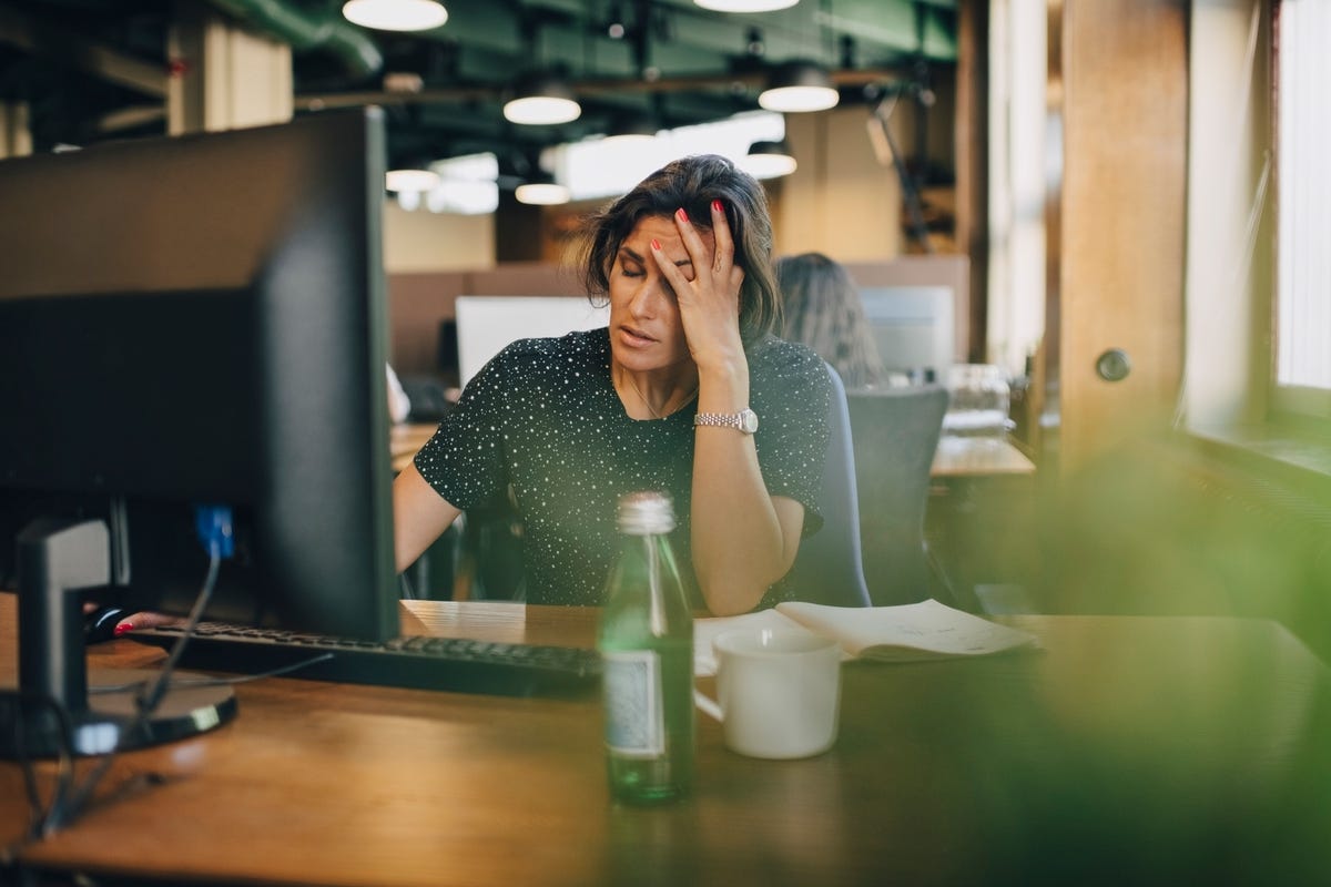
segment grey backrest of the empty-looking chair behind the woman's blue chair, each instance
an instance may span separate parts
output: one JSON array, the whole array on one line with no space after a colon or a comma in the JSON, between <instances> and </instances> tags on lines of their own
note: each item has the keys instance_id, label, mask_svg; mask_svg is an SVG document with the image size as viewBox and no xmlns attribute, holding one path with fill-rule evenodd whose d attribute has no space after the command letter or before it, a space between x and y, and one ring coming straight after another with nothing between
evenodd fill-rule
<instances>
[{"instance_id":1,"label":"grey backrest of the empty-looking chair behind the woman's blue chair","mask_svg":"<svg viewBox=\"0 0 1331 887\"><path fill-rule=\"evenodd\" d=\"M874 605L934 596L924 516L948 390L910 386L847 395L860 493L864 573Z\"/></svg>"}]
</instances>

